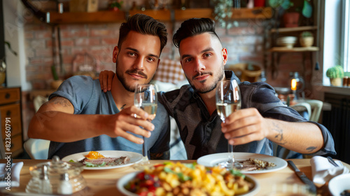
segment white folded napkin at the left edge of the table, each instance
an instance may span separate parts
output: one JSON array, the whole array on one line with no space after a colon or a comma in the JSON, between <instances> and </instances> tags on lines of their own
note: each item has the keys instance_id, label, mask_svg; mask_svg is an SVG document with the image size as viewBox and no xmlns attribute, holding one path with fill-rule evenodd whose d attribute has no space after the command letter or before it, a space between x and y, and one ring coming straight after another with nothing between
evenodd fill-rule
<instances>
[{"instance_id":1,"label":"white folded napkin at the left edge of the table","mask_svg":"<svg viewBox=\"0 0 350 196\"><path fill-rule=\"evenodd\" d=\"M6 164L1 163L0 164L0 175L5 174L5 181L0 181L0 188L7 188L7 187L18 187L20 186L20 172L23 167L23 162L16 162L13 163L11 167L11 175L10 179L8 176L6 176L6 173L9 171L6 171Z\"/></svg>"}]
</instances>

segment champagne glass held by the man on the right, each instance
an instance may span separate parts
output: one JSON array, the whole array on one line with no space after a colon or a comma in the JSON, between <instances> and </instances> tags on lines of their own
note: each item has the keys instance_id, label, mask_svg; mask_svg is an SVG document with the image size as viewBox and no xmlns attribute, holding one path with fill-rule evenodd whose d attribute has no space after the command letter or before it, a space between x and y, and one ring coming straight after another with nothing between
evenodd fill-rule
<instances>
[{"instance_id":1,"label":"champagne glass held by the man on the right","mask_svg":"<svg viewBox=\"0 0 350 196\"><path fill-rule=\"evenodd\" d=\"M223 80L216 88L216 109L223 123L231 113L241 109L241 91L237 80ZM228 162L223 163L224 167L241 167L235 162L233 156L233 146L228 144Z\"/></svg>"}]
</instances>

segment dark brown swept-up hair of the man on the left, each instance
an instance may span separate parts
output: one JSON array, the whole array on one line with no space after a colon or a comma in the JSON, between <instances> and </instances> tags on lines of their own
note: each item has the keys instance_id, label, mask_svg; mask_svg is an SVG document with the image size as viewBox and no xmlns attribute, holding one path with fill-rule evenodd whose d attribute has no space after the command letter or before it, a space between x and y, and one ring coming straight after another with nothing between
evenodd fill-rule
<instances>
[{"instance_id":1,"label":"dark brown swept-up hair of the man on the left","mask_svg":"<svg viewBox=\"0 0 350 196\"><path fill-rule=\"evenodd\" d=\"M118 48L121 47L130 31L158 36L160 38L160 53L162 53L164 46L167 44L167 28L151 16L137 13L127 17L127 22L123 22L119 29Z\"/></svg>"}]
</instances>

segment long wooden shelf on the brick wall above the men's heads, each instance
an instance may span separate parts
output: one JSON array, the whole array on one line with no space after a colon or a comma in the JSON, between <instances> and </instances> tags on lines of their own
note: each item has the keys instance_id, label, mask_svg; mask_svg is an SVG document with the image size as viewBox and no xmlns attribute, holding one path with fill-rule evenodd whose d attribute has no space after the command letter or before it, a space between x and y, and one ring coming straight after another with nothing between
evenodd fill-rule
<instances>
[{"instance_id":1,"label":"long wooden shelf on the brick wall above the men's heads","mask_svg":"<svg viewBox=\"0 0 350 196\"><path fill-rule=\"evenodd\" d=\"M174 18L172 18L174 12ZM57 13L50 12L50 22L52 24L74 24L74 23L98 23L98 22L124 22L127 15L144 13L156 20L187 20L190 18L214 18L211 8L193 8L186 10L130 10L123 11L98 11L94 13ZM272 8L241 8L235 10L232 8L232 19L267 19L272 18Z\"/></svg>"}]
</instances>

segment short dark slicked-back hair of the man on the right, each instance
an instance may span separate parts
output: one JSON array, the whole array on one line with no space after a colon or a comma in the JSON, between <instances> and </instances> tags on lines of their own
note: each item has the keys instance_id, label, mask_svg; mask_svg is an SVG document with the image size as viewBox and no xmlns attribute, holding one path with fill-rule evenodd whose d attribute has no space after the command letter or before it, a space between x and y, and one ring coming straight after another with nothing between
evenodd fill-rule
<instances>
[{"instance_id":1,"label":"short dark slicked-back hair of the man on the right","mask_svg":"<svg viewBox=\"0 0 350 196\"><path fill-rule=\"evenodd\" d=\"M176 31L176 34L173 36L173 42L176 48L179 48L181 41L184 38L188 38L190 36L195 36L203 33L213 34L218 38L220 38L215 32L215 22L210 18L191 18L182 22L181 27Z\"/></svg>"}]
</instances>

